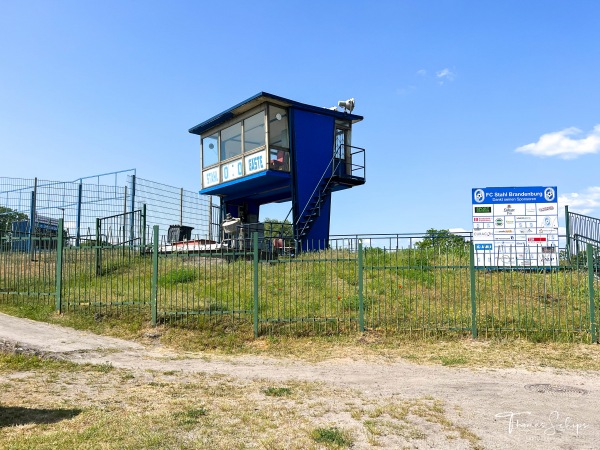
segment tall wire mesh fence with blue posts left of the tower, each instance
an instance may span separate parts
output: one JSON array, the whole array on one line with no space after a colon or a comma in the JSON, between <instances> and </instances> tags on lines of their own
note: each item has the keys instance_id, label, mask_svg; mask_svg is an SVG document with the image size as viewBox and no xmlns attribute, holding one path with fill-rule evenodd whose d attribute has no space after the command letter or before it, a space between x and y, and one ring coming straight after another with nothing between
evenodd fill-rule
<instances>
[{"instance_id":1,"label":"tall wire mesh fence with blue posts left of the tower","mask_svg":"<svg viewBox=\"0 0 600 450\"><path fill-rule=\"evenodd\" d=\"M98 219L143 209L148 227L158 225L162 235L167 235L171 226L185 226L195 239L220 240L220 207L212 197L135 174L122 180L119 174L67 182L0 177L0 245L6 249L12 245L9 242L20 240L21 250L33 251L32 237L56 237L62 219L68 244L79 246L96 239ZM113 175L113 184L101 184L111 181ZM121 228L125 226L129 241L145 240L140 239L141 233L148 237L148 227L124 224ZM111 235L121 231L112 230Z\"/></svg>"}]
</instances>

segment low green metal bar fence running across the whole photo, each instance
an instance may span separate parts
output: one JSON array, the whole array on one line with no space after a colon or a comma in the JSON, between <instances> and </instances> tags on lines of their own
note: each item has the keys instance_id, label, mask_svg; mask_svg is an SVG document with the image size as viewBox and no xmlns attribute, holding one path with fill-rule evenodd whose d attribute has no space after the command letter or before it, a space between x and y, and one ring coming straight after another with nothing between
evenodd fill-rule
<instances>
[{"instance_id":1,"label":"low green metal bar fence running across the whole photo","mask_svg":"<svg viewBox=\"0 0 600 450\"><path fill-rule=\"evenodd\" d=\"M598 252L591 244L559 267L482 268L468 241L421 239L343 237L327 250L294 254L258 235L174 250L156 226L147 246L65 246L58 236L34 258L2 247L0 302L133 314L171 326L239 324L257 336L367 331L598 340Z\"/></svg>"}]
</instances>

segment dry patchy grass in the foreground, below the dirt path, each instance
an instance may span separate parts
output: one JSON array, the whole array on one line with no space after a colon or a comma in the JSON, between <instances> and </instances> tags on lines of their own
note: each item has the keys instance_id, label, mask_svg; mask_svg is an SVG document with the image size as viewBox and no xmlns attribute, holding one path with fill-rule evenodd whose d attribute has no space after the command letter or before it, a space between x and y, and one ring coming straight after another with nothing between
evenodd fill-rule
<instances>
[{"instance_id":1,"label":"dry patchy grass in the foreground, below the dirt path","mask_svg":"<svg viewBox=\"0 0 600 450\"><path fill-rule=\"evenodd\" d=\"M0 364L2 448L477 448L478 438L432 398L371 398L321 383L273 386L31 355L2 354Z\"/></svg>"}]
</instances>

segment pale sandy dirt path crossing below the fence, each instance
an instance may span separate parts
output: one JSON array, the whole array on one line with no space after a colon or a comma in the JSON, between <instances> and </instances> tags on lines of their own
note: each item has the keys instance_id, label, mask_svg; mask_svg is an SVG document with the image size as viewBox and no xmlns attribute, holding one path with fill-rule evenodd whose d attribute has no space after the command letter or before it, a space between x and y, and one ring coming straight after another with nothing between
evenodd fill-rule
<instances>
[{"instance_id":1,"label":"pale sandy dirt path crossing below the fence","mask_svg":"<svg viewBox=\"0 0 600 450\"><path fill-rule=\"evenodd\" d=\"M0 343L75 362L133 370L225 374L241 379L317 381L364 395L432 396L459 406L485 448L600 449L600 374L558 370L457 369L404 361L307 363L254 356L177 354L0 314ZM530 386L542 385L542 386ZM550 385L550 386L544 386Z\"/></svg>"}]
</instances>

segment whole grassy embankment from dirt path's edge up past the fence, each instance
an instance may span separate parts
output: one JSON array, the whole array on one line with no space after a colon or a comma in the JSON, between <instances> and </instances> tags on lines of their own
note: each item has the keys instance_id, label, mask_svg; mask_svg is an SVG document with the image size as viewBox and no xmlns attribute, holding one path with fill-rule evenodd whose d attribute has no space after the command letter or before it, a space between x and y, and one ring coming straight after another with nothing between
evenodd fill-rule
<instances>
[{"instance_id":1,"label":"whole grassy embankment from dirt path's edge up past the fence","mask_svg":"<svg viewBox=\"0 0 600 450\"><path fill-rule=\"evenodd\" d=\"M262 335L254 339L251 261L161 257L159 325L154 328L149 257L123 258L119 249L104 251L97 271L92 249L69 249L63 266L65 313L59 315L53 311L52 258L32 263L26 256L0 257L0 289L31 294L0 294L0 311L143 342L159 340L181 350L310 360L353 355L456 366L600 368L596 347L585 345L589 300L583 270L477 271L479 339L472 340L464 252L368 249L364 334L356 332L356 253L324 251L261 262ZM40 287L52 295L34 295Z\"/></svg>"}]
</instances>

